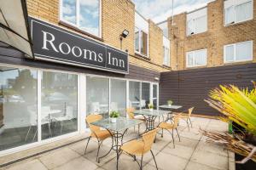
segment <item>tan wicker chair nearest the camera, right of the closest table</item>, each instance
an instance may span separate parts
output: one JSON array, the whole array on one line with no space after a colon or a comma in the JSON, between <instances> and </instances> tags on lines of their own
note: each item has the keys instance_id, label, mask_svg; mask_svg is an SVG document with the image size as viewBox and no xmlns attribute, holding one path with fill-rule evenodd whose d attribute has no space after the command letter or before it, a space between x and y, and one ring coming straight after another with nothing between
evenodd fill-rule
<instances>
[{"instance_id":1,"label":"tan wicker chair nearest the camera, right of the closest table","mask_svg":"<svg viewBox=\"0 0 256 170\"><path fill-rule=\"evenodd\" d=\"M122 152L125 152L127 155L133 157L135 161L137 161L136 156L142 156L141 163L137 161L140 169L142 170L144 154L146 154L150 150L151 155L154 158L154 154L153 154L153 151L151 150L151 147L152 147L152 144L154 143L154 138L157 130L158 129L155 128L151 131L148 131L147 133L143 133L143 137L141 139L133 139L123 144L120 147L120 155L122 154ZM155 158L154 158L154 164L155 164L155 167L158 169Z\"/></svg>"}]
</instances>

